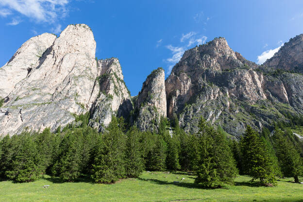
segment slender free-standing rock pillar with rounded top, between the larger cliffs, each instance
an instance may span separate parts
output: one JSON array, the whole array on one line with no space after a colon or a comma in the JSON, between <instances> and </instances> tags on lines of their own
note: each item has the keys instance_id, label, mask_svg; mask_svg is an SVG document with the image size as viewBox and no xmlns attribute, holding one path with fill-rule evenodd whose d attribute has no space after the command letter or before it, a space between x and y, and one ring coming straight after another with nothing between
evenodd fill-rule
<instances>
[{"instance_id":1,"label":"slender free-standing rock pillar with rounded top, between the larger cliffs","mask_svg":"<svg viewBox=\"0 0 303 202\"><path fill-rule=\"evenodd\" d=\"M135 124L141 131L157 130L160 118L166 117L165 73L153 70L135 98Z\"/></svg>"}]
</instances>

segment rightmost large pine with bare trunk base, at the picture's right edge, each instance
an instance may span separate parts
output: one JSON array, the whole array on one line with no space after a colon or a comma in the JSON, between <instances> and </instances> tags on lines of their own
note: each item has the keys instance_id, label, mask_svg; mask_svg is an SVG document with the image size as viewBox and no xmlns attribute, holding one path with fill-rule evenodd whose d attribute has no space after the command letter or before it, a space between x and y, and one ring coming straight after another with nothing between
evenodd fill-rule
<instances>
[{"instance_id":1,"label":"rightmost large pine with bare trunk base, at the picture's right edge","mask_svg":"<svg viewBox=\"0 0 303 202\"><path fill-rule=\"evenodd\" d=\"M303 159L300 156L300 152L283 135L283 131L277 128L275 129L274 142L283 175L285 177L293 177L295 183L299 183L298 176L303 174Z\"/></svg>"}]
</instances>

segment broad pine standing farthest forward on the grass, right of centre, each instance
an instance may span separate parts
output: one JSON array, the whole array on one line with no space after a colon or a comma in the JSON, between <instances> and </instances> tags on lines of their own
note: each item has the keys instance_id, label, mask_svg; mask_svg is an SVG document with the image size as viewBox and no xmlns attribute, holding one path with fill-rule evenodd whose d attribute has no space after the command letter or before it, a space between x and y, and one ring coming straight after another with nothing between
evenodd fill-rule
<instances>
[{"instance_id":1,"label":"broad pine standing farthest forward on the grass, right of centre","mask_svg":"<svg viewBox=\"0 0 303 202\"><path fill-rule=\"evenodd\" d=\"M236 177L236 163L223 133L199 120L198 159L195 164L196 183L217 187Z\"/></svg>"}]
</instances>

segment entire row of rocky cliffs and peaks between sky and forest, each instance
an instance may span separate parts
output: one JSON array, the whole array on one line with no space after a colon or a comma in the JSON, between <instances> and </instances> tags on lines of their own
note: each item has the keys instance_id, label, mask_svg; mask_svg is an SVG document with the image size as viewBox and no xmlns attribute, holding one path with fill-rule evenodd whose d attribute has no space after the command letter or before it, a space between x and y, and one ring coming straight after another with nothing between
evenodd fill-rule
<instances>
[{"instance_id":1,"label":"entire row of rocky cliffs and peaks between sky and forest","mask_svg":"<svg viewBox=\"0 0 303 202\"><path fill-rule=\"evenodd\" d=\"M195 133L202 116L239 137L247 125L261 131L303 114L303 34L261 66L215 38L186 50L166 80L162 68L152 71L134 98L118 59L97 60L95 50L85 24L26 41L0 68L1 134L56 131L82 124L80 115L98 131L123 116L142 131L156 131L161 117L178 118Z\"/></svg>"}]
</instances>

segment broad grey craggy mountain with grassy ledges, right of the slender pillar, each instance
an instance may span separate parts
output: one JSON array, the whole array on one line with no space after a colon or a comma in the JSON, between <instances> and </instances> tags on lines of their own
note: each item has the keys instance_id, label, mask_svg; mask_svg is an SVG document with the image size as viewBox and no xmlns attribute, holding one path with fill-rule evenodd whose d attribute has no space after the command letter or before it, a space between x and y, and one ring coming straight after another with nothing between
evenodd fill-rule
<instances>
[{"instance_id":1,"label":"broad grey craggy mountain with grassy ledges, right of the slender pillar","mask_svg":"<svg viewBox=\"0 0 303 202\"><path fill-rule=\"evenodd\" d=\"M287 113L302 113L302 79L277 75L231 50L225 38L215 38L186 50L173 67L165 81L168 117L178 115L189 132L197 131L201 116L231 135L241 135L248 124L261 130L287 120Z\"/></svg>"}]
</instances>

